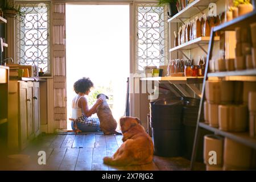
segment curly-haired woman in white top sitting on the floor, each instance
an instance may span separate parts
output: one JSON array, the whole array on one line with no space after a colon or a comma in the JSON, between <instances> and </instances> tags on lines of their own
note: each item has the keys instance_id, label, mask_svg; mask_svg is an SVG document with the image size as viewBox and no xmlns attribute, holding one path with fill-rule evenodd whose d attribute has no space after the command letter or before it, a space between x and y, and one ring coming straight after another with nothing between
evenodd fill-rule
<instances>
[{"instance_id":1,"label":"curly-haired woman in white top sitting on the floor","mask_svg":"<svg viewBox=\"0 0 256 182\"><path fill-rule=\"evenodd\" d=\"M100 131L100 120L98 118L91 118L90 116L96 113L98 105L101 105L102 100L98 98L96 103L89 109L88 101L84 97L88 96L90 89L93 87L93 82L90 78L81 78L74 84L76 97L72 101L72 130L77 132L93 132Z\"/></svg>"}]
</instances>

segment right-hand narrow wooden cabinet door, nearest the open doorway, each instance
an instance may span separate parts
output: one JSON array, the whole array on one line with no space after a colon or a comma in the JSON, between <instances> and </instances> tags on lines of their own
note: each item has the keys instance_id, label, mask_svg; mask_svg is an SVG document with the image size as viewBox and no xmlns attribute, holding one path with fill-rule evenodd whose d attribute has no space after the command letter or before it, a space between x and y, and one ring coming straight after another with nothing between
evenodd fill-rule
<instances>
[{"instance_id":1,"label":"right-hand narrow wooden cabinet door, nearest the open doorway","mask_svg":"<svg viewBox=\"0 0 256 182\"><path fill-rule=\"evenodd\" d=\"M37 137L40 133L40 112L39 112L39 82L34 82L33 90L33 109L34 109L34 133Z\"/></svg>"}]
</instances>

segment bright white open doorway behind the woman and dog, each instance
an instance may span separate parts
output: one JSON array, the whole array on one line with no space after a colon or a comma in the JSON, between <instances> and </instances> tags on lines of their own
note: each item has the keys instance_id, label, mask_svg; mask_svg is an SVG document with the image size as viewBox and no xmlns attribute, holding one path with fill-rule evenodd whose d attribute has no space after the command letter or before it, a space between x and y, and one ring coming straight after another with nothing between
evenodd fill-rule
<instances>
[{"instance_id":1,"label":"bright white open doorway behind the woman and dog","mask_svg":"<svg viewBox=\"0 0 256 182\"><path fill-rule=\"evenodd\" d=\"M66 5L68 118L76 95L74 82L89 77L94 84L88 96L89 107L98 93L108 95L119 129L119 118L125 115L130 71L129 16L129 5ZM71 130L69 121L67 126Z\"/></svg>"}]
</instances>

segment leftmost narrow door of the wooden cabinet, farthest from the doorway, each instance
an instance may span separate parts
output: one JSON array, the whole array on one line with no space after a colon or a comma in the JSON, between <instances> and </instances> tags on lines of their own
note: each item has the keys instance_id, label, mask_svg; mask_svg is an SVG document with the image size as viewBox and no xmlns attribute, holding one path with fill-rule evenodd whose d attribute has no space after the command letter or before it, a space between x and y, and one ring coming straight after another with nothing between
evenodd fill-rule
<instances>
[{"instance_id":1,"label":"leftmost narrow door of the wooden cabinet, farthest from the doorway","mask_svg":"<svg viewBox=\"0 0 256 182\"><path fill-rule=\"evenodd\" d=\"M19 149L23 150L28 143L27 135L27 83L19 82Z\"/></svg>"}]
</instances>

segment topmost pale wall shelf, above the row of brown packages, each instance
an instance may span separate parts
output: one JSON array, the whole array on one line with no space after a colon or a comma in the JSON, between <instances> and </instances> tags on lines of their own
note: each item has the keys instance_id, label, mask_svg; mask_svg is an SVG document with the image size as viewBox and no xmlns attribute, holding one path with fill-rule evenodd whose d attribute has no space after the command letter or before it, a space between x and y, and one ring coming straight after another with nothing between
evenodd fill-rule
<instances>
[{"instance_id":1,"label":"topmost pale wall shelf, above the row of brown packages","mask_svg":"<svg viewBox=\"0 0 256 182\"><path fill-rule=\"evenodd\" d=\"M194 16L209 6L209 3L217 2L218 0L196 0L190 3L187 7L181 10L176 15L172 16L172 18L168 19L169 23L183 23L183 19L189 19L191 16ZM203 9L200 7L203 7Z\"/></svg>"}]
</instances>

